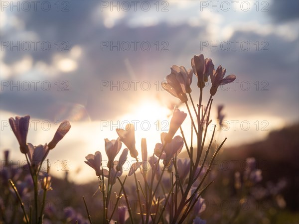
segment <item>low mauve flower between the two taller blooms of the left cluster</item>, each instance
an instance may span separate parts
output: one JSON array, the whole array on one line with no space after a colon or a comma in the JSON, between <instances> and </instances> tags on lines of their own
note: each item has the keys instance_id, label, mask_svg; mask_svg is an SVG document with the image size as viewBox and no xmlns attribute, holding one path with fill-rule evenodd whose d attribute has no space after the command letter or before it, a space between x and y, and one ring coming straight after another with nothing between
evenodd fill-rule
<instances>
[{"instance_id":1,"label":"low mauve flower between the two taller blooms of the left cluster","mask_svg":"<svg viewBox=\"0 0 299 224\"><path fill-rule=\"evenodd\" d=\"M33 146L31 143L28 143L27 145L28 145L28 157L29 157L31 167L37 172L37 168L49 153L48 145L44 144L44 145Z\"/></svg>"}]
</instances>

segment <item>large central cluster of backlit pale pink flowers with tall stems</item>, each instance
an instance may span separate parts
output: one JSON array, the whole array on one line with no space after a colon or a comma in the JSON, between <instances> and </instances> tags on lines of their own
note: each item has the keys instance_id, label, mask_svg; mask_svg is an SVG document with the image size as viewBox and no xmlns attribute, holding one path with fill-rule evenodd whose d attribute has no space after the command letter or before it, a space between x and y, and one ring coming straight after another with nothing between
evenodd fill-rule
<instances>
[{"instance_id":1,"label":"large central cluster of backlit pale pink flowers with tall stems","mask_svg":"<svg viewBox=\"0 0 299 224\"><path fill-rule=\"evenodd\" d=\"M140 215L140 220L142 224L148 223L159 223L161 219L167 220L168 223L182 223L185 220L190 222L190 219L193 220L194 224L204 224L205 221L201 220L198 215L204 210L203 199L200 197L202 192L211 184L208 184L206 187L201 189L201 186L211 170L211 164L215 159L217 153L219 152L222 144L215 151L208 169L204 169L203 166L199 165L200 156L204 147L204 141L206 138L206 129L204 132L203 122L207 120L207 125L209 122L209 114L211 110L212 97L216 94L217 89L220 85L224 85L230 82L233 82L236 79L235 75L229 75L224 78L226 70L221 66L214 69L214 64L211 59L204 58L203 55L194 56L191 59L192 70L186 70L183 66L173 65L171 67L171 73L166 77L166 82L162 83L162 88L169 92L174 97L178 98L182 103L184 103L188 109L191 121L192 121L192 131L194 129L197 137L197 155L196 158L193 159L193 146L192 146L192 137L191 137L191 145L190 150L189 146L186 143L186 139L183 135L183 131L181 129L181 124L185 120L187 113L182 112L178 109L174 109L168 133L161 133L161 143L156 143L154 148L154 154L148 158L147 151L147 142L146 139L142 139L141 143L141 152L142 159L138 158L138 150L136 149L136 140L135 140L135 131L134 125L128 124L126 129L116 129L118 134L118 138L116 140L108 140L105 139L105 151L108 156L108 164L107 169L103 168L102 164L102 155L100 151L97 151L95 154L89 154L86 156L85 163L87 163L90 167L92 167L96 175L99 178L100 182L100 190L103 193L104 199L104 211L103 211L103 223L109 224L112 222L113 214L116 210L113 210L112 214L108 214L108 205L111 199L111 191L113 185L116 183L116 179L119 180L122 190L117 196L117 202L122 197L122 192L126 198L127 207L126 210L129 213L130 223L134 223L135 218L132 214L132 210L130 208L130 203L128 201L128 194L125 189L125 181L127 176L131 176L134 174L135 183L136 183L136 193L139 202L139 211L135 211L136 214ZM200 88L200 96L199 96L199 106L197 110L195 109L194 103L191 98L191 83L193 73L198 79L197 86ZM208 81L208 77L210 77L212 86L210 89L210 99L206 106L206 110L203 113L202 110L202 90L205 87L205 82ZM192 106L194 109L194 113L196 114L197 119L197 128L192 118L192 114L189 110L187 101L188 96L192 102ZM201 109L201 111L200 111ZM222 108L218 109L219 111ZM223 116L223 115L222 115ZM221 117L219 117L221 119ZM223 119L223 117L222 117ZM207 126L206 125L206 126ZM177 130L180 129L182 136L174 136ZM214 129L215 131L215 129ZM204 132L204 133L203 133ZM214 133L213 133L214 136ZM206 151L206 156L204 160L207 159L207 155L209 153L209 149L211 147L210 141L209 147ZM122 143L126 145L125 148L119 157L118 161L114 161L117 154L120 152ZM177 159L177 155L182 150L183 146L187 149L189 159L190 160L181 160ZM136 159L136 162L131 166L129 174L125 177L124 181L120 180L120 176L123 173L122 166L125 163L128 152L130 155ZM159 161L162 161L162 169L160 172ZM174 171L172 172L172 167ZM140 184L137 180L136 171L140 169L140 173L144 179L144 185ZM148 174L148 171L151 170L151 173ZM170 178L163 179L162 176L164 171L170 171ZM204 173L204 174L203 174ZM156 180L154 180L156 177ZM107 184L108 188L106 190L104 179L108 179ZM168 182L169 188L166 188L165 183ZM162 184L160 184L162 183ZM155 186L154 186L155 185ZM163 187L164 185L164 187ZM159 188L162 189L162 195L159 191ZM142 194L140 193L142 191ZM168 193L167 191L168 190ZM127 190L128 191L128 190ZM166 192L165 192L166 191ZM142 198L143 196L143 198ZM163 203L160 198L163 198ZM171 202L170 202L171 200ZM169 208L169 214L164 214L166 208ZM200 209L195 209L200 208ZM125 215L122 210L119 212L119 223L125 222ZM196 214L192 213L192 211L197 211ZM109 218L110 217L110 218ZM129 218L127 217L127 218Z\"/></svg>"}]
</instances>

